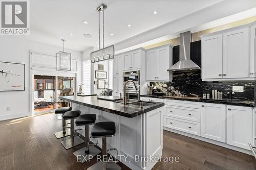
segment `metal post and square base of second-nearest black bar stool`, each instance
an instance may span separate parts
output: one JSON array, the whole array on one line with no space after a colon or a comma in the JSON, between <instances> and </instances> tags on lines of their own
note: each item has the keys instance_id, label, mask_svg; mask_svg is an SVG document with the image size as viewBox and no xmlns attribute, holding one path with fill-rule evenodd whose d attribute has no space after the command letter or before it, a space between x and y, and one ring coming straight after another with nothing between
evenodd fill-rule
<instances>
[{"instance_id":1,"label":"metal post and square base of second-nearest black bar stool","mask_svg":"<svg viewBox=\"0 0 256 170\"><path fill-rule=\"evenodd\" d=\"M100 150L89 145L89 142L90 142L89 125L85 126L85 138L86 138L86 147L73 153L76 156L77 160L80 161L81 163L87 162L88 160L92 159L94 156L101 153Z\"/></svg>"}]
</instances>

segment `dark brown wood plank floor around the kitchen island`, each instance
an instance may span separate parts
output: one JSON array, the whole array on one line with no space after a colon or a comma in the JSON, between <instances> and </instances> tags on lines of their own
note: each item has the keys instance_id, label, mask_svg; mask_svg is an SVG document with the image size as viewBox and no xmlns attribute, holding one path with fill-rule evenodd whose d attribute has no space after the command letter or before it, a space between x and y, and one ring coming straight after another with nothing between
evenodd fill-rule
<instances>
[{"instance_id":1,"label":"dark brown wood plank floor around the kitchen island","mask_svg":"<svg viewBox=\"0 0 256 170\"><path fill-rule=\"evenodd\" d=\"M76 162L54 132L61 130L55 114L0 122L0 169L86 169L96 162ZM178 156L179 162L158 162L154 169L256 169L254 157L164 131L163 156ZM122 169L129 169L118 163Z\"/></svg>"}]
</instances>

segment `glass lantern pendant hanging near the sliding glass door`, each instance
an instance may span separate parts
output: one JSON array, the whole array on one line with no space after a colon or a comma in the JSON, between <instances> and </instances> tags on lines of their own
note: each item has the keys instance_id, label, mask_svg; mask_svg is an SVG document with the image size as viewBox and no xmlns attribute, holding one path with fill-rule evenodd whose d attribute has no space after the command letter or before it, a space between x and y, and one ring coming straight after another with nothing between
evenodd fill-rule
<instances>
[{"instance_id":1,"label":"glass lantern pendant hanging near the sliding glass door","mask_svg":"<svg viewBox=\"0 0 256 170\"><path fill-rule=\"evenodd\" d=\"M71 54L64 52L64 43L65 39L61 39L63 41L63 51L60 51L56 54L56 68L59 71L71 71Z\"/></svg>"}]
</instances>

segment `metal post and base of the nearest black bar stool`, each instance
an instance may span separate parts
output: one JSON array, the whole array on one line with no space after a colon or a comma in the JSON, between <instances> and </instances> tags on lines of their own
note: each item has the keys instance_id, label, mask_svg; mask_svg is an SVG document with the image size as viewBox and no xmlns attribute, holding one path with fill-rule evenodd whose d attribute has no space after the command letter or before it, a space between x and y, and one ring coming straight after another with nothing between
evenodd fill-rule
<instances>
[{"instance_id":1,"label":"metal post and base of the nearest black bar stool","mask_svg":"<svg viewBox=\"0 0 256 170\"><path fill-rule=\"evenodd\" d=\"M108 153L106 153L106 138L102 138L102 160L100 162L95 163L94 165L90 166L88 170L99 170L99 169L118 169L121 170L121 167L116 163L108 163L106 159L108 156Z\"/></svg>"}]
</instances>

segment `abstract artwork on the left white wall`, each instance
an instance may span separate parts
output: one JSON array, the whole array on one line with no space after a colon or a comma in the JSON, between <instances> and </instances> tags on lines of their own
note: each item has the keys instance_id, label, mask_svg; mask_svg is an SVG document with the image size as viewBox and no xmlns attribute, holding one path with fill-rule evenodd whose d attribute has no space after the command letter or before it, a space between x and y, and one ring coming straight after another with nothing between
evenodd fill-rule
<instances>
[{"instance_id":1,"label":"abstract artwork on the left white wall","mask_svg":"<svg viewBox=\"0 0 256 170\"><path fill-rule=\"evenodd\" d=\"M0 61L0 91L25 90L25 64Z\"/></svg>"}]
</instances>

